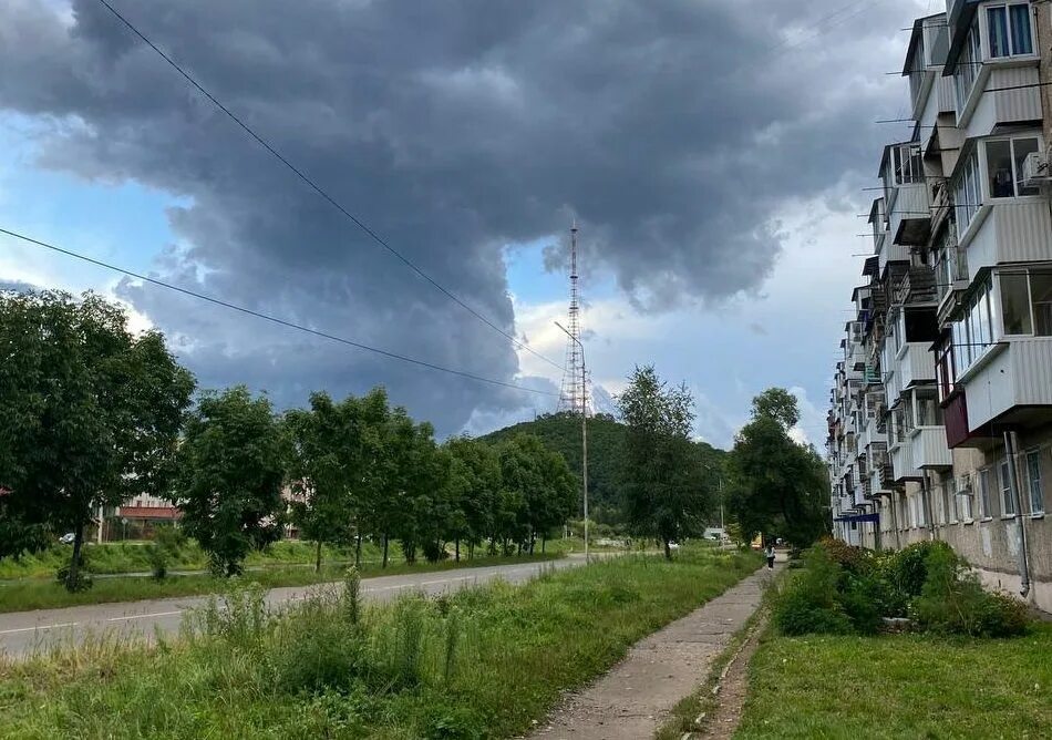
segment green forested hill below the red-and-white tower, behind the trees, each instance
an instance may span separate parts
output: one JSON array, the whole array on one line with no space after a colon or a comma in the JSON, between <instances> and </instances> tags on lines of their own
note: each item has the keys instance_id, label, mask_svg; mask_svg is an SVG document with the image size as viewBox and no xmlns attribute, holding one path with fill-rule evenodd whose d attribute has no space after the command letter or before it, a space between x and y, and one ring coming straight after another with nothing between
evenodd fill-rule
<instances>
[{"instance_id":1,"label":"green forested hill below the red-and-white tower, behind the trees","mask_svg":"<svg viewBox=\"0 0 1052 740\"><path fill-rule=\"evenodd\" d=\"M535 434L551 450L561 452L574 474L580 476L580 417L568 413L545 414L534 421L524 421L481 438L499 442L516 434ZM625 439L625 425L613 417L598 414L588 419L588 493L590 517L598 522L616 523L620 495L617 489L618 459ZM716 489L719 471L723 467L723 450L705 442L697 443L702 462L712 469L711 489Z\"/></svg>"}]
</instances>

